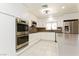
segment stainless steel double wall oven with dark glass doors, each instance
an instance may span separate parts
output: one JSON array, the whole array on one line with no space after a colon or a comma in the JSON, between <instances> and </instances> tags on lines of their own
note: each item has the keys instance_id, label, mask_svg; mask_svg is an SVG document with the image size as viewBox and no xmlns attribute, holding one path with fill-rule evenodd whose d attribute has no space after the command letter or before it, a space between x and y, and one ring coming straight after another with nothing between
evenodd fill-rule
<instances>
[{"instance_id":1,"label":"stainless steel double wall oven with dark glass doors","mask_svg":"<svg viewBox=\"0 0 79 59\"><path fill-rule=\"evenodd\" d=\"M20 49L28 45L29 35L28 35L28 24L26 21L20 18L16 19L16 49Z\"/></svg>"}]
</instances>

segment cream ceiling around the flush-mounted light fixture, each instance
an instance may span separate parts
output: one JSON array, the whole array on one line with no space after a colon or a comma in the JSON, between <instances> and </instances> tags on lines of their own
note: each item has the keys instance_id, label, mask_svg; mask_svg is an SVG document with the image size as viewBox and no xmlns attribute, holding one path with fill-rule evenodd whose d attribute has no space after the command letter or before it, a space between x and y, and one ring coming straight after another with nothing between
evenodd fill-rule
<instances>
[{"instance_id":1,"label":"cream ceiling around the flush-mounted light fixture","mask_svg":"<svg viewBox=\"0 0 79 59\"><path fill-rule=\"evenodd\" d=\"M25 3L23 4L27 10L38 18L47 18L50 15L41 13L42 5L48 5L52 9L51 16L62 16L64 14L79 12L79 4L77 3Z\"/></svg>"}]
</instances>

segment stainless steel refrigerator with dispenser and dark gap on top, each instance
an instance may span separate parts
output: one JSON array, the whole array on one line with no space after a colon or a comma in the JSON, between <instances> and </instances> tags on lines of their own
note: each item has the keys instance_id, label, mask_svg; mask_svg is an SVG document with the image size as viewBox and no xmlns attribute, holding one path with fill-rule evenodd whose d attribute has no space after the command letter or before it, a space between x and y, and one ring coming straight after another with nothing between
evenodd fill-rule
<instances>
[{"instance_id":1,"label":"stainless steel refrigerator with dispenser and dark gap on top","mask_svg":"<svg viewBox=\"0 0 79 59\"><path fill-rule=\"evenodd\" d=\"M64 20L64 33L78 34L78 23L78 19Z\"/></svg>"}]
</instances>

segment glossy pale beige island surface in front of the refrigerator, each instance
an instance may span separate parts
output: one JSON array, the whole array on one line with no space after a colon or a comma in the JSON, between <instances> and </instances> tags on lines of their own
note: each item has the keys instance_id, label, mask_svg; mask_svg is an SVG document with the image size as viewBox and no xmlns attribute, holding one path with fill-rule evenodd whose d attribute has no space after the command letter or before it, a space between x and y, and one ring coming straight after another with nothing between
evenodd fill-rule
<instances>
[{"instance_id":1,"label":"glossy pale beige island surface in front of the refrigerator","mask_svg":"<svg viewBox=\"0 0 79 59\"><path fill-rule=\"evenodd\" d=\"M60 56L79 56L79 34L58 34Z\"/></svg>"}]
</instances>

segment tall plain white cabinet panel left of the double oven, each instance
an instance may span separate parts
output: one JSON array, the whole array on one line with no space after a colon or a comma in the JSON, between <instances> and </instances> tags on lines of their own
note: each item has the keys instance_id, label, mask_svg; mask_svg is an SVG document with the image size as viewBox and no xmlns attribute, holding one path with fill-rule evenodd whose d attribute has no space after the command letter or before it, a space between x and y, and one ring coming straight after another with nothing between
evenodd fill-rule
<instances>
[{"instance_id":1,"label":"tall plain white cabinet panel left of the double oven","mask_svg":"<svg viewBox=\"0 0 79 59\"><path fill-rule=\"evenodd\" d=\"M0 55L15 55L15 18L0 13Z\"/></svg>"}]
</instances>

